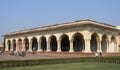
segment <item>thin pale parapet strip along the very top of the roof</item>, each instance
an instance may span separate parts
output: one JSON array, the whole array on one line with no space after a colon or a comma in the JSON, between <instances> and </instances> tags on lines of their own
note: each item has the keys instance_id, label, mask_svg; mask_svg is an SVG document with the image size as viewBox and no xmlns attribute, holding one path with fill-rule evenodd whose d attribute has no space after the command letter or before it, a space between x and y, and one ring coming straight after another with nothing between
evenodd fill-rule
<instances>
[{"instance_id":1,"label":"thin pale parapet strip along the very top of the roof","mask_svg":"<svg viewBox=\"0 0 120 70\"><path fill-rule=\"evenodd\" d=\"M26 29L26 30L21 30L21 31L16 31L16 32L10 32L10 33L7 33L3 36L9 36L9 35L15 35L15 34L21 34L21 33L29 33L29 32L34 32L34 31L38 31L38 30L46 30L46 29L51 29L51 28L61 28L63 26L69 26L69 25L76 25L76 24L80 24L82 25L81 23L82 22L87 22L87 23L91 23L91 24L94 24L94 25L99 25L99 26L104 26L104 27L108 27L108 28L112 28L112 29L116 29L116 30L119 30L117 28L115 28L116 26L113 26L113 25L109 25L109 24L106 24L106 23L101 23L101 22L97 22L97 21L94 21L94 20L90 20L90 19L85 19L85 20L76 20L76 21L73 21L73 22L67 22L67 23L61 23L61 24L55 24L55 25L49 25L49 26L43 26L43 27L36 27L36 28L31 28L31 29ZM83 23L84 24L84 23Z\"/></svg>"}]
</instances>

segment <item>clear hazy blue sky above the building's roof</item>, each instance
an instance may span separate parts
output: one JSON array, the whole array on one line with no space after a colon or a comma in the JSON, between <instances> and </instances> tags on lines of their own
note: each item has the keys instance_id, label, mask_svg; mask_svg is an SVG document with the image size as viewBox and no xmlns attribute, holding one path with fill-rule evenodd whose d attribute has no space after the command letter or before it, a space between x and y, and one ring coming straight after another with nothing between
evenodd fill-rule
<instances>
[{"instance_id":1,"label":"clear hazy blue sky above the building's roof","mask_svg":"<svg viewBox=\"0 0 120 70\"><path fill-rule=\"evenodd\" d=\"M0 0L0 41L8 32L82 19L120 25L120 0Z\"/></svg>"}]
</instances>

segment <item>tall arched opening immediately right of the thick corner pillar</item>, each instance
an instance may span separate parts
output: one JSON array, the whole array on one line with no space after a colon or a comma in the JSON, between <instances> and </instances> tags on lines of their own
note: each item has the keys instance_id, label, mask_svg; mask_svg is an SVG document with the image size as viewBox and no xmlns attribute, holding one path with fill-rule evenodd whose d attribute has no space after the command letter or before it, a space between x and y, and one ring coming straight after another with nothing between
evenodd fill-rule
<instances>
[{"instance_id":1,"label":"tall arched opening immediately right of the thick corner pillar","mask_svg":"<svg viewBox=\"0 0 120 70\"><path fill-rule=\"evenodd\" d=\"M91 52L97 52L98 49L98 40L99 40L99 36L97 33L93 33L91 35L91 40L90 40L90 49Z\"/></svg>"}]
</instances>

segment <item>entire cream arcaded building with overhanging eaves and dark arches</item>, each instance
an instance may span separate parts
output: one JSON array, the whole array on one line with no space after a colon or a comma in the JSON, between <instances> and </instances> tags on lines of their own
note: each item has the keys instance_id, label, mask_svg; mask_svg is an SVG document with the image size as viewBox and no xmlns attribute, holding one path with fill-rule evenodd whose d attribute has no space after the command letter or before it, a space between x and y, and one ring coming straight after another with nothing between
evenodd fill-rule
<instances>
[{"instance_id":1,"label":"entire cream arcaded building with overhanging eaves and dark arches","mask_svg":"<svg viewBox=\"0 0 120 70\"><path fill-rule=\"evenodd\" d=\"M5 51L120 53L120 27L93 20L7 33Z\"/></svg>"}]
</instances>

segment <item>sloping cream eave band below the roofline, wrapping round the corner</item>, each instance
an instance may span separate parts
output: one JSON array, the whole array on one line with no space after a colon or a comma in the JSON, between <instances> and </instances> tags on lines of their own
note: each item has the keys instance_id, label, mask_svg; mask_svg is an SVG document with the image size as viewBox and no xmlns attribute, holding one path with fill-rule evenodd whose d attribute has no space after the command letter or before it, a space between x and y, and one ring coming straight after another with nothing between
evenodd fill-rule
<instances>
[{"instance_id":1,"label":"sloping cream eave band below the roofline, wrapping round the corner","mask_svg":"<svg viewBox=\"0 0 120 70\"><path fill-rule=\"evenodd\" d=\"M32 28L32 29L26 29L26 30L21 30L21 31L16 31L16 32L11 32L8 34L3 35L4 37L6 36L12 36L12 35L22 35L22 34L29 34L29 33L34 33L34 32L40 32L40 31L52 31L52 30L57 30L57 29L65 29L65 28L70 28L70 27L79 27L79 26L84 26L84 25L93 25L93 26L99 26L115 31L119 31L115 26L93 21L90 19L86 20L77 20L74 22L68 22L68 23L62 23L62 24L55 24L55 25L50 25L50 26L44 26L44 27L37 27L37 28Z\"/></svg>"}]
</instances>

